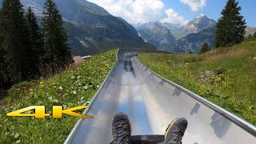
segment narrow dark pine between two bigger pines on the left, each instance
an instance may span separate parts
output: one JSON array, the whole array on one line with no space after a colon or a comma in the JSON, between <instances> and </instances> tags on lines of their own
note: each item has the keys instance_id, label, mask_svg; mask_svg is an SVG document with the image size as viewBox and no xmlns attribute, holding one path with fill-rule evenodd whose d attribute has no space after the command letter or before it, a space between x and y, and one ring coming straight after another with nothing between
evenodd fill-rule
<instances>
[{"instance_id":1,"label":"narrow dark pine between two bigger pines on the left","mask_svg":"<svg viewBox=\"0 0 256 144\"><path fill-rule=\"evenodd\" d=\"M38 20L34 15L34 12L31 10L31 7L26 12L26 21L28 30L30 33L30 42L32 45L32 58L30 62L33 65L34 74L39 74L38 66L40 64L40 57L43 54L43 37L42 30L38 26ZM30 67L31 70L32 67Z\"/></svg>"}]
</instances>

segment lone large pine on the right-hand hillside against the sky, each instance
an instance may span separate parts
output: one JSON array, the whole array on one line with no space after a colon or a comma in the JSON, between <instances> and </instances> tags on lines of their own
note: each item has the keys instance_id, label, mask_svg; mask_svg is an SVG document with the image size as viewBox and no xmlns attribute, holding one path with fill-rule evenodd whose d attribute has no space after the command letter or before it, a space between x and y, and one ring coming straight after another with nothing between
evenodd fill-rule
<instances>
[{"instance_id":1,"label":"lone large pine on the right-hand hillside against the sky","mask_svg":"<svg viewBox=\"0 0 256 144\"><path fill-rule=\"evenodd\" d=\"M240 14L241 7L235 0L226 2L222 17L218 19L215 46L232 46L244 39L246 20Z\"/></svg>"}]
</instances>

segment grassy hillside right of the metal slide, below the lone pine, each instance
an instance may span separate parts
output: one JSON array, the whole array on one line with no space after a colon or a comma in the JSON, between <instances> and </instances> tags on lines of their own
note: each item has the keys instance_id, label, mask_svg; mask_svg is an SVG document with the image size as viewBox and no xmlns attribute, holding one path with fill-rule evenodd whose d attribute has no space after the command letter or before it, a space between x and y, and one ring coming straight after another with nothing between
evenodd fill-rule
<instances>
[{"instance_id":1,"label":"grassy hillside right of the metal slide, below the lone pine","mask_svg":"<svg viewBox=\"0 0 256 144\"><path fill-rule=\"evenodd\" d=\"M202 55L139 58L157 74L256 124L256 41Z\"/></svg>"}]
</instances>

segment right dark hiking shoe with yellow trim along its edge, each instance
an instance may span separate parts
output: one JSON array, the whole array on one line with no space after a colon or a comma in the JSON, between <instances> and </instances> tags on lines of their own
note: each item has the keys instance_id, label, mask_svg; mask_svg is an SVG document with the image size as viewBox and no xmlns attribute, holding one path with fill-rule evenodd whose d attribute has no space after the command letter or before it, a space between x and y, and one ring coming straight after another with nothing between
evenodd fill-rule
<instances>
[{"instance_id":1,"label":"right dark hiking shoe with yellow trim along its edge","mask_svg":"<svg viewBox=\"0 0 256 144\"><path fill-rule=\"evenodd\" d=\"M162 144L178 143L182 144L182 137L185 133L188 122L186 118L177 118L166 129L165 140Z\"/></svg>"}]
</instances>

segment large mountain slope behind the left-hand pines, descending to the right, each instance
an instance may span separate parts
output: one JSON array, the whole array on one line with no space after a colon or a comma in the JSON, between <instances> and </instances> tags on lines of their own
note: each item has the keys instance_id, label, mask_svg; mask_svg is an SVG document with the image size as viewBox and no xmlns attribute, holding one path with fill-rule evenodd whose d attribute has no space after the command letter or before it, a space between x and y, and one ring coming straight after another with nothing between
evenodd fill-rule
<instances>
[{"instance_id":1,"label":"large mountain slope behind the left-hand pines, descending to the right","mask_svg":"<svg viewBox=\"0 0 256 144\"><path fill-rule=\"evenodd\" d=\"M45 0L21 0L42 17ZM122 18L86 0L54 0L65 21L71 52L74 55L98 54L113 47L150 47Z\"/></svg>"}]
</instances>

